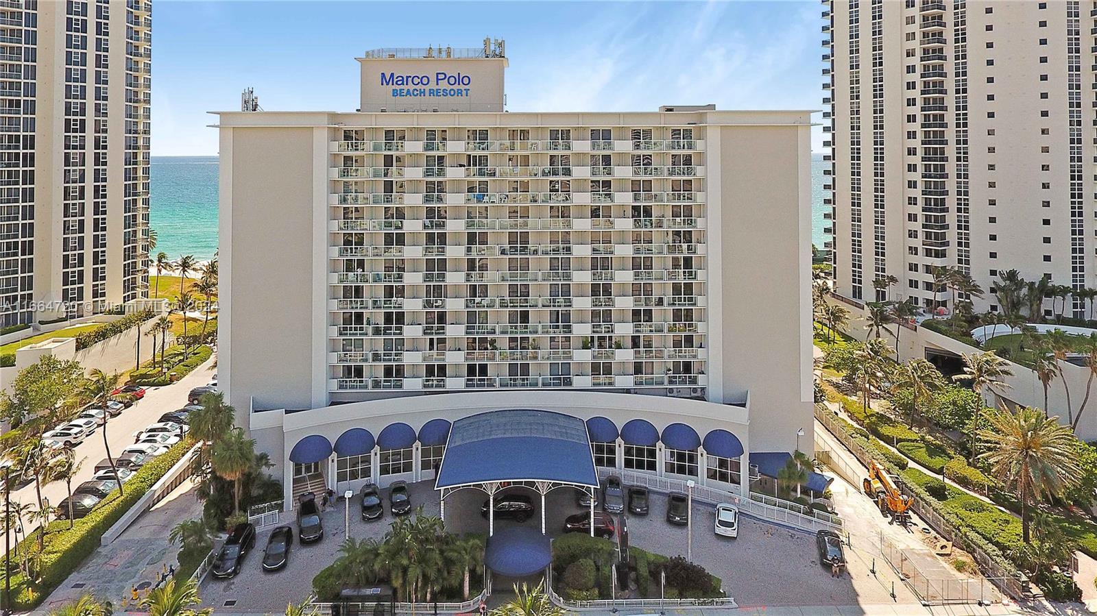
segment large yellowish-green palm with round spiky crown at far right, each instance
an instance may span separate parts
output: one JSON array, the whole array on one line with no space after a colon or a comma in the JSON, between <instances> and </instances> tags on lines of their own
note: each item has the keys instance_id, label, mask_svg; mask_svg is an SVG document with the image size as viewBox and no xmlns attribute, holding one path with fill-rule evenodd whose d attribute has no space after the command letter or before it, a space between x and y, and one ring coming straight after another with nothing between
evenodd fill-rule
<instances>
[{"instance_id":1,"label":"large yellowish-green palm with round spiky crown at far right","mask_svg":"<svg viewBox=\"0 0 1097 616\"><path fill-rule=\"evenodd\" d=\"M1058 417L1047 418L1031 407L995 412L991 429L981 430L980 438L989 446L980 458L1020 497L1021 533L1028 544L1029 506L1033 501L1045 494L1061 494L1078 481L1082 469L1076 461L1077 440L1059 424Z\"/></svg>"}]
</instances>

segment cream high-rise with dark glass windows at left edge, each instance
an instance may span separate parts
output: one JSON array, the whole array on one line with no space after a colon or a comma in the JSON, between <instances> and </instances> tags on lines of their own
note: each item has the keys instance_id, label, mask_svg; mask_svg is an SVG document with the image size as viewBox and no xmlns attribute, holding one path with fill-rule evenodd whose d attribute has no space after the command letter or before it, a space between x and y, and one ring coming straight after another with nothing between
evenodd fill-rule
<instances>
[{"instance_id":1,"label":"cream high-rise with dark glass windows at left edge","mask_svg":"<svg viewBox=\"0 0 1097 616\"><path fill-rule=\"evenodd\" d=\"M0 0L0 327L143 297L149 0Z\"/></svg>"}]
</instances>

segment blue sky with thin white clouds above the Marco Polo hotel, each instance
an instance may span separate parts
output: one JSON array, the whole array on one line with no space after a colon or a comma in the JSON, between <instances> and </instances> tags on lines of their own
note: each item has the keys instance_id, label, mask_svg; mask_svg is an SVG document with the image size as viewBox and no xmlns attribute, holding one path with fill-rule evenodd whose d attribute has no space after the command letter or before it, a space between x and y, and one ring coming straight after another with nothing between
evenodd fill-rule
<instances>
[{"instance_id":1,"label":"blue sky with thin white clouds above the Marco Polo hotel","mask_svg":"<svg viewBox=\"0 0 1097 616\"><path fill-rule=\"evenodd\" d=\"M505 38L510 111L821 106L815 2L191 2L152 13L152 155L214 155L208 111L353 111L374 47ZM822 146L816 127L813 150Z\"/></svg>"}]
</instances>

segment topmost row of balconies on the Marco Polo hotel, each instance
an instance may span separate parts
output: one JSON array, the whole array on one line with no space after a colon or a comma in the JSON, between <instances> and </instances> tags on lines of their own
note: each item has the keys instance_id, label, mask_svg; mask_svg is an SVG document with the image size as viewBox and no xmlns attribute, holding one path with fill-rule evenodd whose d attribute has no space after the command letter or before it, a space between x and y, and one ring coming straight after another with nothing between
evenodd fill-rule
<instances>
[{"instance_id":1,"label":"topmost row of balconies on the Marco Polo hotel","mask_svg":"<svg viewBox=\"0 0 1097 616\"><path fill-rule=\"evenodd\" d=\"M331 141L330 153L342 152L606 152L606 151L697 151L699 139L645 139L613 141Z\"/></svg>"}]
</instances>

